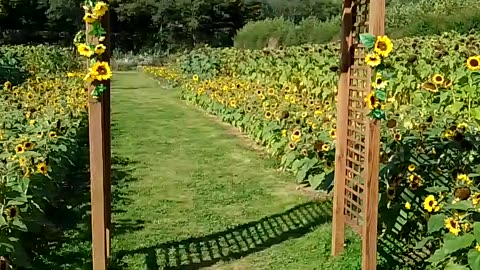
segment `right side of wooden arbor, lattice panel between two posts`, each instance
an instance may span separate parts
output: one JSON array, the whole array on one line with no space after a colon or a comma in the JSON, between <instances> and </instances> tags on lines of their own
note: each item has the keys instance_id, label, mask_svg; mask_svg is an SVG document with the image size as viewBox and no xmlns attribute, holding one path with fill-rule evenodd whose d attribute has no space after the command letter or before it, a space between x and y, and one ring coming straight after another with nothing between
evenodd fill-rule
<instances>
[{"instance_id":1,"label":"right side of wooden arbor, lattice panel between two posts","mask_svg":"<svg viewBox=\"0 0 480 270\"><path fill-rule=\"evenodd\" d=\"M360 34L384 34L385 0L344 0L332 254L340 254L345 225L363 240L362 269L377 268L380 121L368 116L364 98L372 69L365 64Z\"/></svg>"}]
</instances>

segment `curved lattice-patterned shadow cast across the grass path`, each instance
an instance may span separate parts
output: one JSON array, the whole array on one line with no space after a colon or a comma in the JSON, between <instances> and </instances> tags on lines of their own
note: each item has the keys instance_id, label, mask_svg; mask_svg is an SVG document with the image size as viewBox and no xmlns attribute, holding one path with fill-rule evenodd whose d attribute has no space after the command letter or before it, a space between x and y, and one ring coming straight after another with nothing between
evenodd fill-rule
<instances>
[{"instance_id":1,"label":"curved lattice-patterned shadow cast across the grass path","mask_svg":"<svg viewBox=\"0 0 480 270\"><path fill-rule=\"evenodd\" d=\"M219 261L238 259L292 238L299 238L331 219L329 201L309 202L224 231L171 241L151 247L123 250L114 254L110 269L124 269L123 258L145 256L146 269L200 269Z\"/></svg>"}]
</instances>

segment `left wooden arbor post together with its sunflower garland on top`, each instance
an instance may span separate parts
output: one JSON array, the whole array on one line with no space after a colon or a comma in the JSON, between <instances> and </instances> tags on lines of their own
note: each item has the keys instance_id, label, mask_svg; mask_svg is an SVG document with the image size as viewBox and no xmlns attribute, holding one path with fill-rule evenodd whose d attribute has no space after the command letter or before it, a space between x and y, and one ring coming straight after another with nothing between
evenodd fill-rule
<instances>
[{"instance_id":1,"label":"left wooden arbor post together with its sunflower garland on top","mask_svg":"<svg viewBox=\"0 0 480 270\"><path fill-rule=\"evenodd\" d=\"M106 270L110 257L110 15L108 4L87 0L86 30L76 36L79 53L88 58L89 145L93 270ZM84 43L83 43L84 41Z\"/></svg>"}]
</instances>

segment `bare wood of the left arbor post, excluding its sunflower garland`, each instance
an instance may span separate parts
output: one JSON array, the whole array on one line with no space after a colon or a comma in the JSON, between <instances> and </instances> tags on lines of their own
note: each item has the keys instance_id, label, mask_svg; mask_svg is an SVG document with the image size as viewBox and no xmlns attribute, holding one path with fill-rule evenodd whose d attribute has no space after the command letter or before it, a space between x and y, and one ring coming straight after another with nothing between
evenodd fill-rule
<instances>
[{"instance_id":1,"label":"bare wood of the left arbor post, excluding its sunflower garland","mask_svg":"<svg viewBox=\"0 0 480 270\"><path fill-rule=\"evenodd\" d=\"M109 12L102 17L107 26L106 38L102 44L107 51L101 55L103 62L110 62ZM89 35L92 26L87 24L87 43L99 44L99 39ZM90 188L92 208L92 256L93 270L106 270L110 256L110 82L103 83L107 89L101 97L94 99L89 92L89 144L90 144Z\"/></svg>"}]
</instances>

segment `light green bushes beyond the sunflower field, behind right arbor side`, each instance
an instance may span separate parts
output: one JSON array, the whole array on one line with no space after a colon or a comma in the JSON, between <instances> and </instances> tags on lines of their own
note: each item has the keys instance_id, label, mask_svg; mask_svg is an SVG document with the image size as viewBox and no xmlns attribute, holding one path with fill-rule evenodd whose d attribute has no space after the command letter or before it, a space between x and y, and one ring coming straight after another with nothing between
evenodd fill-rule
<instances>
[{"instance_id":1,"label":"light green bushes beyond the sunflower field, behind right arbor side","mask_svg":"<svg viewBox=\"0 0 480 270\"><path fill-rule=\"evenodd\" d=\"M387 34L392 37L428 36L456 31L468 34L480 29L480 7L475 0L388 1ZM340 38L341 16L329 19L285 18L248 23L235 36L235 47L262 49L272 44L297 46L325 43ZM274 41L269 44L269 41Z\"/></svg>"}]
</instances>

